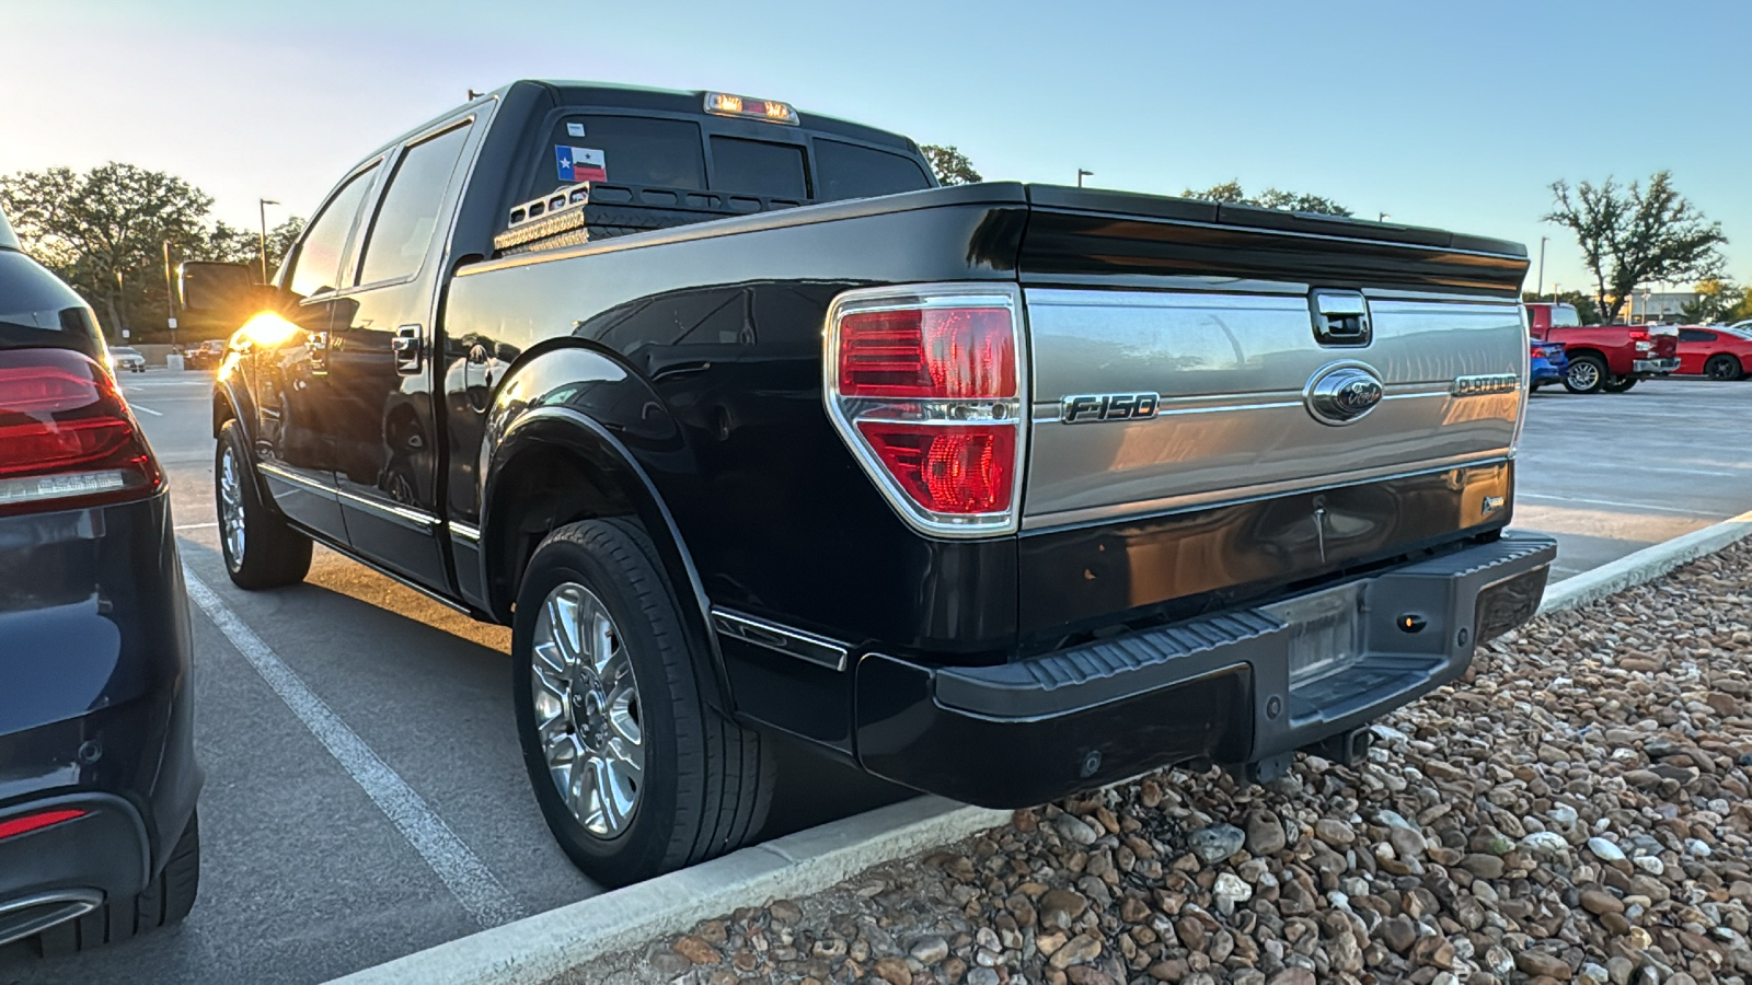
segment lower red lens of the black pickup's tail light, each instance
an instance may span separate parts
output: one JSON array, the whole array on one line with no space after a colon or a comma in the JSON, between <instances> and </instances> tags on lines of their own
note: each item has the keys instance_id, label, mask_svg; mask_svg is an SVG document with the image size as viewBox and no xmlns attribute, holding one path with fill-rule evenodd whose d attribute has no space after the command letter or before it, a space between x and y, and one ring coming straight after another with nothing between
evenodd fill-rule
<instances>
[{"instance_id":1,"label":"lower red lens of the black pickup's tail light","mask_svg":"<svg viewBox=\"0 0 1752 985\"><path fill-rule=\"evenodd\" d=\"M860 421L876 457L934 514L997 514L1016 485L1014 424L899 424Z\"/></svg>"}]
</instances>

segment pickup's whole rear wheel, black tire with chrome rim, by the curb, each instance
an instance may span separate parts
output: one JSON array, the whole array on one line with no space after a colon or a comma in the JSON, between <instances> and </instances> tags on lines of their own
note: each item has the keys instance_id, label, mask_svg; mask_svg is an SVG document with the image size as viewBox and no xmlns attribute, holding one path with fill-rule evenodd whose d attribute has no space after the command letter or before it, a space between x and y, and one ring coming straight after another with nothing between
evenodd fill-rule
<instances>
[{"instance_id":1,"label":"pickup's whole rear wheel, black tire with chrome rim, by the curb","mask_svg":"<svg viewBox=\"0 0 1752 985\"><path fill-rule=\"evenodd\" d=\"M590 603L606 615L606 629ZM594 627L590 650L601 650L599 659L583 652L582 633L580 643L571 645L578 655L557 659L566 648L561 633L541 629L573 605L578 608L571 610L571 624ZM773 743L706 705L704 682L694 675L703 647L683 626L657 552L636 522L568 524L531 556L512 626L517 734L548 829L573 864L597 883L627 885L734 852L766 822L776 773ZM548 684L538 684L538 663ZM599 675L578 670L585 666L608 670ZM617 698L627 673L631 701ZM583 685L576 684L580 675ZM573 684L554 689L554 680ZM548 722L547 731L538 724L538 701L545 703L540 715ZM636 741L629 741L632 731ZM592 747L603 750L594 759ZM550 762L550 748L559 750L561 762ZM631 776L625 762L634 752L638 782L622 783ZM573 766L562 762L568 754ZM603 766L582 773L576 766L596 762ZM571 785L580 775L590 790L582 790L582 782ZM631 803L613 799L618 826L611 811L590 810L610 801L597 796L603 783L615 794L634 792Z\"/></svg>"}]
</instances>

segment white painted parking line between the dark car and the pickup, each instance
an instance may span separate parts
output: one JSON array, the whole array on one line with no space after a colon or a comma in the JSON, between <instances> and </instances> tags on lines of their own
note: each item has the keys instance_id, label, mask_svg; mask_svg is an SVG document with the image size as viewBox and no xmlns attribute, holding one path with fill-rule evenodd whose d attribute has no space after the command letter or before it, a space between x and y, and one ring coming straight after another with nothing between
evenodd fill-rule
<instances>
[{"instance_id":1,"label":"white painted parking line between the dark car and the pickup","mask_svg":"<svg viewBox=\"0 0 1752 985\"><path fill-rule=\"evenodd\" d=\"M201 606L207 619L212 619L219 631L231 640L231 645L244 654L244 659L280 696L280 701L286 701L286 706L298 715L310 734L364 789L364 794L401 831L408 845L450 887L450 894L475 922L482 927L498 927L524 917L524 908L517 899L499 885L492 871L450 831L450 826L426 806L426 801L413 792L413 787L408 787L406 780L378 759L371 747L364 745L364 740L347 727L347 722L317 698L273 648L261 641L261 636L256 636L212 589L194 577L194 571L184 566L182 577L187 580L189 598L194 599L194 605Z\"/></svg>"}]
</instances>

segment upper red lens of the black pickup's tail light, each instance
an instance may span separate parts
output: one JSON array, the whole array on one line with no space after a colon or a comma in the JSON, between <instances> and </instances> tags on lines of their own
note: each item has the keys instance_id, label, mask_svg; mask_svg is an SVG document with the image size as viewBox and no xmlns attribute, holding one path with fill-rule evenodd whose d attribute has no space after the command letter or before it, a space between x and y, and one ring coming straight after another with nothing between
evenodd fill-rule
<instances>
[{"instance_id":1,"label":"upper red lens of the black pickup's tail light","mask_svg":"<svg viewBox=\"0 0 1752 985\"><path fill-rule=\"evenodd\" d=\"M844 396L1016 396L1016 333L1007 308L899 308L839 321Z\"/></svg>"}]
</instances>

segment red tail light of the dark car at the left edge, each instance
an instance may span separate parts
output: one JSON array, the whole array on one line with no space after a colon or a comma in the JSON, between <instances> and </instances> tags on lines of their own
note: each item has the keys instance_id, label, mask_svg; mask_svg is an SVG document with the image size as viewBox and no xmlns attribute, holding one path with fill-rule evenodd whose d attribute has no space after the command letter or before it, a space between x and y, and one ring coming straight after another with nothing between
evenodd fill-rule
<instances>
[{"instance_id":1,"label":"red tail light of the dark car at the left edge","mask_svg":"<svg viewBox=\"0 0 1752 985\"><path fill-rule=\"evenodd\" d=\"M67 349L0 351L0 515L151 496L163 473L102 366Z\"/></svg>"}]
</instances>

